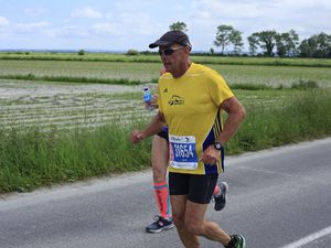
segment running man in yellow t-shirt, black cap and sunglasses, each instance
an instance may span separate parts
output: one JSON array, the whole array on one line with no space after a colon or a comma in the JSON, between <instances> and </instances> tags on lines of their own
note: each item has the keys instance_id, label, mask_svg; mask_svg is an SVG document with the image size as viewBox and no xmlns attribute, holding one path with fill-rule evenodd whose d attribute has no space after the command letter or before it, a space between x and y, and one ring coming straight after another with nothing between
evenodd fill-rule
<instances>
[{"instance_id":1,"label":"running man in yellow t-shirt, black cap and sunglasses","mask_svg":"<svg viewBox=\"0 0 331 248\"><path fill-rule=\"evenodd\" d=\"M224 171L224 144L236 132L245 109L215 71L190 61L186 34L169 31L149 47L159 47L167 69L159 79L159 111L143 131L134 130L138 143L169 127L169 191L173 222L186 248L200 247L199 236L225 248L245 248L242 235L229 235L205 213L218 174ZM222 110L227 118L222 125Z\"/></svg>"}]
</instances>

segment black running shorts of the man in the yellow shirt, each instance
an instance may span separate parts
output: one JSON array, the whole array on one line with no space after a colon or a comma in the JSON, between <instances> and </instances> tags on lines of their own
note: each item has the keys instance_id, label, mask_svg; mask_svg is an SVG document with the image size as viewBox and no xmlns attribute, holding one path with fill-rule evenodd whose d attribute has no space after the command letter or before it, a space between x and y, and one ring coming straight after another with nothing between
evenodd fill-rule
<instances>
[{"instance_id":1,"label":"black running shorts of the man in the yellow shirt","mask_svg":"<svg viewBox=\"0 0 331 248\"><path fill-rule=\"evenodd\" d=\"M193 203L209 204L216 186L218 174L195 175L169 172L170 195L188 195Z\"/></svg>"}]
</instances>

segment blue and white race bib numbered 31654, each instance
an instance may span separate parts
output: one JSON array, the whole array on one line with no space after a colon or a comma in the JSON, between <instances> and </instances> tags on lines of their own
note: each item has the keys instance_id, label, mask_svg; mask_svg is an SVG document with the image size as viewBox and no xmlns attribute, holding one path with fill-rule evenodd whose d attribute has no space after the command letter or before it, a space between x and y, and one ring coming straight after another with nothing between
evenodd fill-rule
<instances>
[{"instance_id":1,"label":"blue and white race bib numbered 31654","mask_svg":"<svg viewBox=\"0 0 331 248\"><path fill-rule=\"evenodd\" d=\"M197 169L196 143L194 136L169 134L170 166L175 169Z\"/></svg>"}]
</instances>

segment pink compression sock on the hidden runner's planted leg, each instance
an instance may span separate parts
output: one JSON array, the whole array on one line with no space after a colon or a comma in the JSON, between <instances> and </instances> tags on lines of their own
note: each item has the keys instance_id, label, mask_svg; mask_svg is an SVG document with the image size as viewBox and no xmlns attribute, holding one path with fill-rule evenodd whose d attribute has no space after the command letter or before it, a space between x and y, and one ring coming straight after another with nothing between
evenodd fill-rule
<instances>
[{"instance_id":1,"label":"pink compression sock on the hidden runner's planted leg","mask_svg":"<svg viewBox=\"0 0 331 248\"><path fill-rule=\"evenodd\" d=\"M167 182L154 183L154 195L156 201L160 211L160 215L163 218L171 217L170 211L170 195Z\"/></svg>"}]
</instances>

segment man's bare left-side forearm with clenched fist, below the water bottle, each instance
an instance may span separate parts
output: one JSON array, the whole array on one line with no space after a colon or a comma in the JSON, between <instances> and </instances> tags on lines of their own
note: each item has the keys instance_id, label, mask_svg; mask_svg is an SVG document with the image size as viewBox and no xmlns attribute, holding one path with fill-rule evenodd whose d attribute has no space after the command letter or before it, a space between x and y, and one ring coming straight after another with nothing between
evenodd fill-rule
<instances>
[{"instance_id":1,"label":"man's bare left-side forearm with clenched fist, below the water bottle","mask_svg":"<svg viewBox=\"0 0 331 248\"><path fill-rule=\"evenodd\" d=\"M158 111L158 114L153 117L152 121L147 126L147 128L143 131L134 130L131 132L131 143L139 143L143 139L159 133L162 130L164 122L166 121L163 114Z\"/></svg>"}]
</instances>

